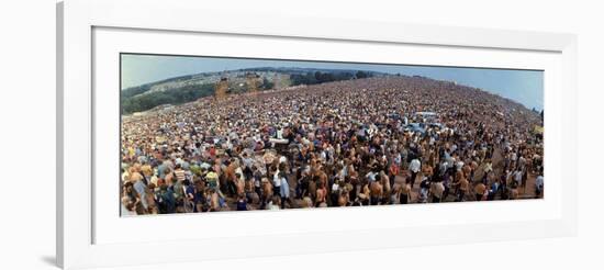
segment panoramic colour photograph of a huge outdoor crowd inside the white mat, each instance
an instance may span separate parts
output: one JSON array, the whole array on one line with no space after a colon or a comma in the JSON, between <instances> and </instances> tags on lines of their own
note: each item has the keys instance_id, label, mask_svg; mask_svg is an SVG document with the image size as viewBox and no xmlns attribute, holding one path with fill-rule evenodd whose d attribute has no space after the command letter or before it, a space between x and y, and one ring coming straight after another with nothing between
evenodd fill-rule
<instances>
[{"instance_id":1,"label":"panoramic colour photograph of a huge outdoor crowd inside the white mat","mask_svg":"<svg viewBox=\"0 0 604 270\"><path fill-rule=\"evenodd\" d=\"M544 198L543 70L121 54L120 77L121 216Z\"/></svg>"}]
</instances>

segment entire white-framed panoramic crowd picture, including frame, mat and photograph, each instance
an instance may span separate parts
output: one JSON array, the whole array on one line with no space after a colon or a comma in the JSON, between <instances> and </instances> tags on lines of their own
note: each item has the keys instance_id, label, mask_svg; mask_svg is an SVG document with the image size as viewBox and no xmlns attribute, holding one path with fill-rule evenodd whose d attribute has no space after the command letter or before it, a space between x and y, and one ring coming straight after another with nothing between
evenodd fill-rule
<instances>
[{"instance_id":1,"label":"entire white-framed panoramic crowd picture, including frame, mat and photograph","mask_svg":"<svg viewBox=\"0 0 604 270\"><path fill-rule=\"evenodd\" d=\"M575 234L573 35L203 10L57 4L61 267Z\"/></svg>"}]
</instances>

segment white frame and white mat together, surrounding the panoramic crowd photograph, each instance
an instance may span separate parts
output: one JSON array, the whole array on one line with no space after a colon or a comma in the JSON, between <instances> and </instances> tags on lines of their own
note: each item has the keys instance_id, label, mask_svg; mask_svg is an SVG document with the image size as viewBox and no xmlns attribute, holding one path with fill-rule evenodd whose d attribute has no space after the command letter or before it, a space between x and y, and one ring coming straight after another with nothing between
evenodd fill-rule
<instances>
[{"instance_id":1,"label":"white frame and white mat together, surrounding the panoramic crowd photograph","mask_svg":"<svg viewBox=\"0 0 604 270\"><path fill-rule=\"evenodd\" d=\"M259 243L257 250L247 252L247 256L264 256L266 249L275 246L280 248L272 250L270 255L396 248L577 234L577 165L569 161L575 160L577 157L577 128L574 128L577 126L577 41L574 35L362 20L279 18L271 14L258 16L242 13L233 16L236 18L233 20L221 20L228 14L211 12L199 16L199 12L203 10L203 2L192 0L178 2L165 0L66 0L57 4L57 261L63 268L231 258L232 255L221 250L241 241ZM141 44L143 44L142 41L145 41L144 38L159 41L158 36L170 35L170 38L180 38L178 41L182 42L179 44L184 45L155 44L154 47L136 45L136 41L128 41L130 45L127 45L111 40L120 38L120 36L125 40L124 33L141 35L141 38L133 38L138 40ZM105 97L107 92L99 92L94 88L103 86L99 85L99 78L103 78L102 81L105 82L111 81L111 75L118 76L111 69L111 67L115 68L113 63L100 60L99 57L105 59L104 53L111 55L125 48L136 49L137 52L134 53L155 53L158 49L164 53L172 50L178 53L180 49L183 54L184 50L191 54L201 54L195 50L197 48L191 48L193 46L186 45L188 42L195 45L195 38L235 38L242 44L249 42L249 46L246 47L247 52L225 53L238 54L238 56L266 57L266 53L255 47L254 42L282 41L291 47L295 47L297 43L307 45L306 49L310 50L304 52L303 59L318 57L316 59L342 60L342 57L346 57L345 53L336 55L335 50L332 52L333 55L325 53L317 56L318 53L312 50L313 46L346 47L343 52L365 46L367 52L371 52L371 49L374 52L416 49L414 52L417 52L417 57L406 57L404 64L489 66L489 60L491 60L499 63L499 65L491 64L495 66L538 67L545 70L546 76L545 97L548 111L546 114L546 177L548 179L547 192L552 195L546 196L543 201L495 202L481 205L458 203L444 206L414 205L404 210L400 207L368 207L347 211L322 210L312 213L286 211L279 214L246 213L237 216L228 213L211 216L179 215L126 218L130 220L127 222L119 217L118 207L115 207L113 217L99 214L103 209L99 205L104 205L105 201L111 203L113 198L99 196L99 192L104 185L94 181L94 176L98 178L99 167L97 164L103 157L98 155L102 153L99 147L102 147L103 150L108 149L98 135L97 122L104 121L102 115L105 113L111 115L112 110L105 108L110 106L111 97ZM169 46L172 48L170 49ZM282 57L288 55L286 50L276 49L273 53L281 54ZM428 58L428 54L432 54L433 58ZM468 57L456 57L457 54ZM492 57L488 57L489 55ZM439 60L438 56L447 60ZM384 61L379 58L377 53L373 56L365 56L367 58L363 59L362 56L359 57L358 60ZM112 86L110 83L109 88ZM108 102L104 102L105 98L108 98ZM114 121L119 121L119 119ZM562 156L564 157L563 164ZM116 157L118 155L115 155ZM480 218L471 216L472 213L486 213L494 207L501 213L505 213L500 220L489 215ZM425 215L423 213L428 210L435 213L455 211L462 218L454 221L447 214L443 214L441 218L425 217L422 222L393 218L395 214L421 216ZM163 226L192 224L187 226L206 226L208 229L216 229L204 225L203 222L211 221L213 224L222 224L221 222L238 222L243 218L289 221L290 223L313 218L347 221L355 214L369 215L370 221L383 218L389 221L392 226L362 223L346 226L326 225L309 230L290 227L289 230L277 233L261 230L260 226L244 230L238 235L227 236L219 232L212 237L200 236L187 239L182 237L145 238L144 229L141 229L139 236L127 239L123 234L123 230L132 228L132 226L141 228L154 223ZM512 215L517 218L508 218ZM109 220L112 220L113 223ZM187 226L182 225L178 228L186 230ZM497 234L493 234L495 230ZM355 237L350 237L350 233L354 233ZM323 239L322 245L316 245L314 239L317 237ZM149 257L149 250L157 247L161 247L166 251L160 257ZM202 252L191 257L190 254L179 250L201 250ZM125 254L127 256L124 256Z\"/></svg>"}]
</instances>

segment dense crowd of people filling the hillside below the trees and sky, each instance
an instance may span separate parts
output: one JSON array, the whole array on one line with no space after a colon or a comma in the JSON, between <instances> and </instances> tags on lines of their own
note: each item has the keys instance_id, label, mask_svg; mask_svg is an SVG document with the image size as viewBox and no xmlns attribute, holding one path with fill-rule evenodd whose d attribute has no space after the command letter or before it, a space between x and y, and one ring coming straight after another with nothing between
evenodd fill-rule
<instances>
[{"instance_id":1,"label":"dense crowd of people filling the hillside below the trees and sky","mask_svg":"<svg viewBox=\"0 0 604 270\"><path fill-rule=\"evenodd\" d=\"M123 115L122 215L541 198L541 116L374 77Z\"/></svg>"}]
</instances>

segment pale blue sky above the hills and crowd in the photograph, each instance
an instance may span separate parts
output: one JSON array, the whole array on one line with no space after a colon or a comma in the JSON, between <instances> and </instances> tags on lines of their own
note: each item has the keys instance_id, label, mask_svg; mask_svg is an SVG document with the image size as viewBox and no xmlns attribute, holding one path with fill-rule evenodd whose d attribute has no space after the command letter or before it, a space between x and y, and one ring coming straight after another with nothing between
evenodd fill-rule
<instances>
[{"instance_id":1,"label":"pale blue sky above the hills and crowd in the photograph","mask_svg":"<svg viewBox=\"0 0 604 270\"><path fill-rule=\"evenodd\" d=\"M331 68L418 75L456 81L508 98L528 109L544 108L544 72L540 70L132 54L123 54L121 65L122 90L172 77L209 71L254 67Z\"/></svg>"}]
</instances>

